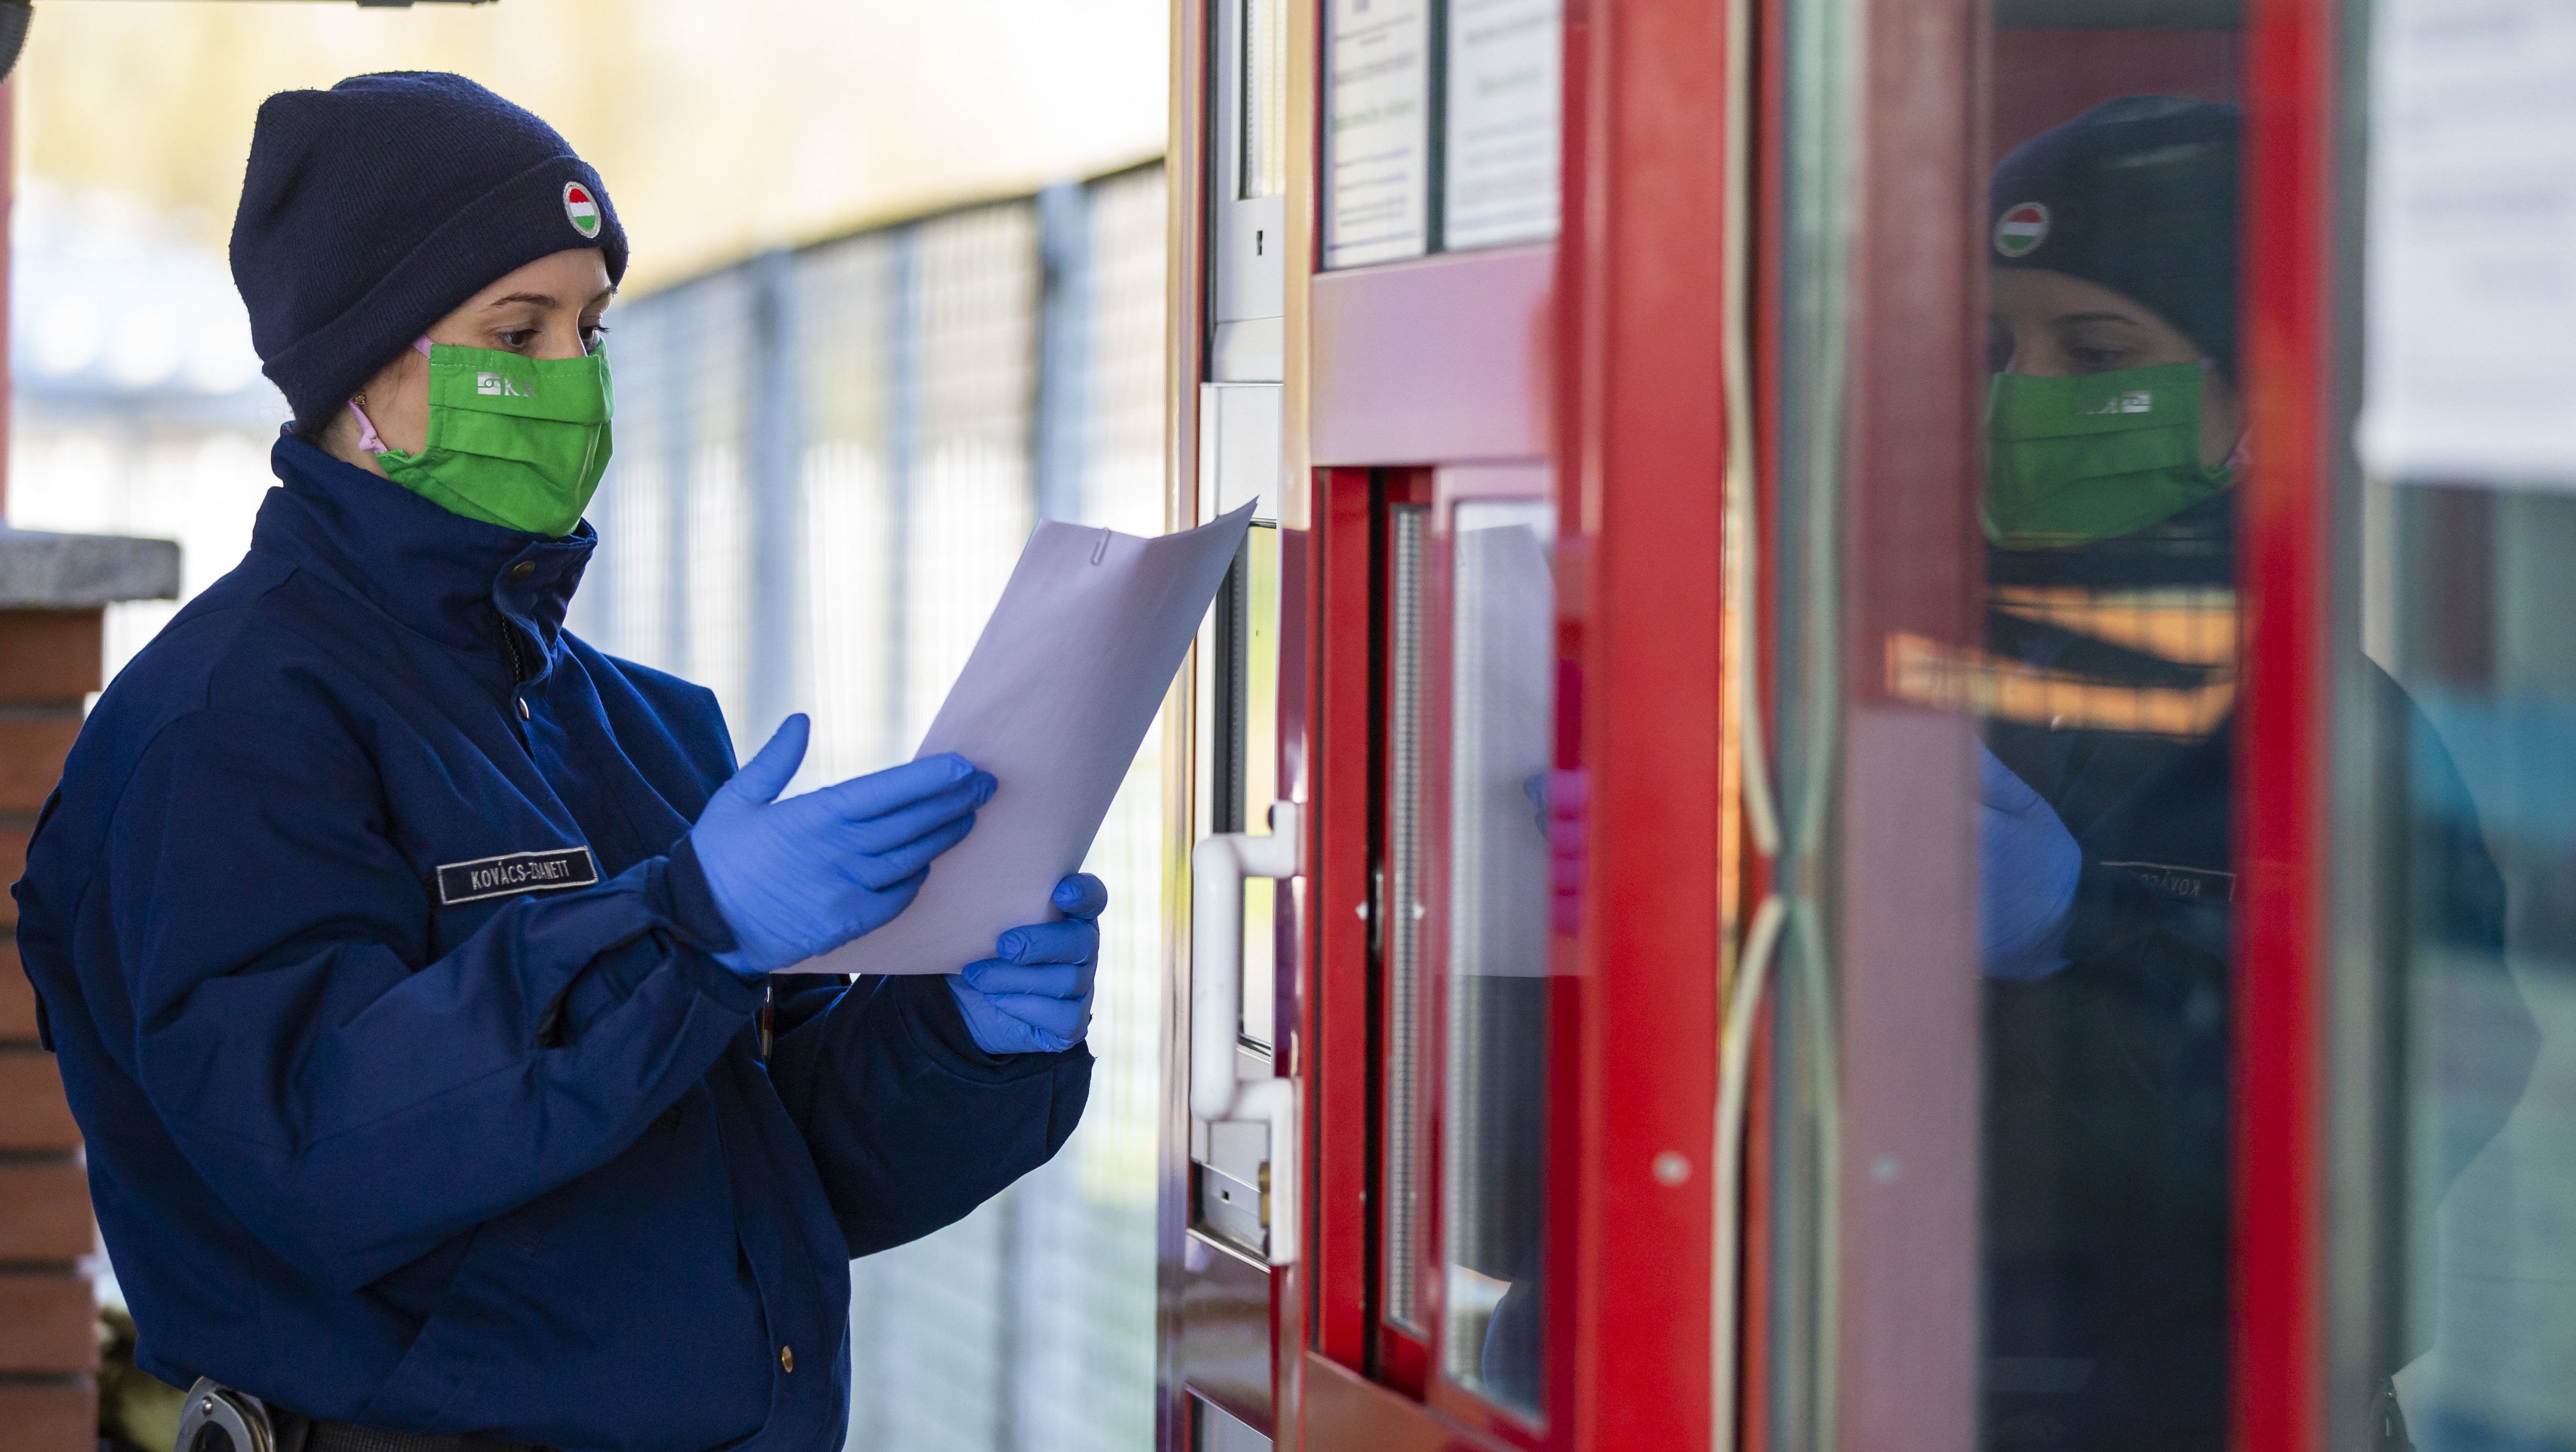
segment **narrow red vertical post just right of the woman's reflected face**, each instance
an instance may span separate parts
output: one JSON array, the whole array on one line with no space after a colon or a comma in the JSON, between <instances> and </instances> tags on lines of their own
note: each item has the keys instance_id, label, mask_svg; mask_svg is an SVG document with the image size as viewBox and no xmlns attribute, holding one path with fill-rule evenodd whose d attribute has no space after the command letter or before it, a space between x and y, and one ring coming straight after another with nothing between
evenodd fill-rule
<instances>
[{"instance_id":1,"label":"narrow red vertical post just right of the woman's reflected face","mask_svg":"<svg viewBox=\"0 0 2576 1452\"><path fill-rule=\"evenodd\" d=\"M2329 549L2336 5L2251 0L2236 851L2236 1444L2326 1444Z\"/></svg>"}]
</instances>

